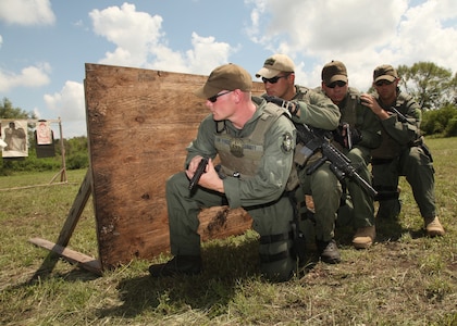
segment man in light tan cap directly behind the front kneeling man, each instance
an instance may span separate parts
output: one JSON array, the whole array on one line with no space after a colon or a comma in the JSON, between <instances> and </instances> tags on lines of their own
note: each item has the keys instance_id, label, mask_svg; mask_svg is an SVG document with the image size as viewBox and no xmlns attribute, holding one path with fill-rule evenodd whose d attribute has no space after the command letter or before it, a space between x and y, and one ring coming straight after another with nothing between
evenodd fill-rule
<instances>
[{"instance_id":1,"label":"man in light tan cap directly behind the front kneeling man","mask_svg":"<svg viewBox=\"0 0 457 326\"><path fill-rule=\"evenodd\" d=\"M296 124L307 124L313 128L334 130L339 123L339 110L324 95L295 85L295 65L285 54L274 54L268 58L263 67L256 74L261 77L268 96L277 97L295 103L293 121ZM296 161L299 151L296 151ZM312 196L314 203L316 243L321 261L339 263L341 255L334 240L336 212L339 208L342 186L336 176L331 172L326 162L316 172L308 175L306 167L319 159L314 154L298 165L300 190ZM298 198L304 201L304 198Z\"/></svg>"}]
</instances>

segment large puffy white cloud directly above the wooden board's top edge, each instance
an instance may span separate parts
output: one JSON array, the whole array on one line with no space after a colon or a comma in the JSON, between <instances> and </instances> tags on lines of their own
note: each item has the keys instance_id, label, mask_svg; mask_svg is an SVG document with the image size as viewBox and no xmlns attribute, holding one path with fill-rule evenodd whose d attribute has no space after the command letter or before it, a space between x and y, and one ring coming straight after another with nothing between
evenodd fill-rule
<instances>
[{"instance_id":1,"label":"large puffy white cloud directly above the wooden board's top edge","mask_svg":"<svg viewBox=\"0 0 457 326\"><path fill-rule=\"evenodd\" d=\"M236 51L226 42L217 42L214 37L201 37L196 33L192 33L193 49L173 51L161 30L162 17L137 12L134 4L94 10L89 16L94 32L116 46L99 61L102 64L209 74Z\"/></svg>"}]
</instances>

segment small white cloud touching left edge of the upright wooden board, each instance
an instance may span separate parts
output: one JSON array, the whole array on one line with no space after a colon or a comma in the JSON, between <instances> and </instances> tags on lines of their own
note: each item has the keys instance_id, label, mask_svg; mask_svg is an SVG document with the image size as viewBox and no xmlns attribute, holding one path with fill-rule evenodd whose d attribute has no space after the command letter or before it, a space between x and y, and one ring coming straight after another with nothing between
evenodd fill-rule
<instances>
[{"instance_id":1,"label":"small white cloud touching left edge of the upright wooden board","mask_svg":"<svg viewBox=\"0 0 457 326\"><path fill-rule=\"evenodd\" d=\"M47 106L60 116L62 121L85 121L84 86L81 83L67 80L60 92L45 95Z\"/></svg>"}]
</instances>

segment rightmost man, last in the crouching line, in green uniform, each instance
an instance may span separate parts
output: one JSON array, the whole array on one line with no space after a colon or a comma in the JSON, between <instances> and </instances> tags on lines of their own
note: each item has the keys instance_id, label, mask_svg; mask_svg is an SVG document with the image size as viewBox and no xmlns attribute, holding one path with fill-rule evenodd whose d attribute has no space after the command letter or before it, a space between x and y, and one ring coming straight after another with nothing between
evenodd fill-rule
<instances>
[{"instance_id":1,"label":"rightmost man, last in the crouching line, in green uniform","mask_svg":"<svg viewBox=\"0 0 457 326\"><path fill-rule=\"evenodd\" d=\"M410 95L399 90L399 79L392 65L380 65L373 72L376 93L360 97L382 125L382 143L372 151L373 185L380 193L376 217L398 217L398 177L405 176L427 234L443 236L445 231L435 209L433 160L420 133L422 112Z\"/></svg>"}]
</instances>

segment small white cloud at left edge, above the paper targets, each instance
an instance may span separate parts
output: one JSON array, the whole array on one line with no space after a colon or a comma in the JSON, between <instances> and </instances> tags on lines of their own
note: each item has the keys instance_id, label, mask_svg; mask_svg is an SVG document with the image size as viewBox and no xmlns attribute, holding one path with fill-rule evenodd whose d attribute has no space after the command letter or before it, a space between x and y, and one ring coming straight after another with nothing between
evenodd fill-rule
<instances>
[{"instance_id":1,"label":"small white cloud at left edge, above the paper targets","mask_svg":"<svg viewBox=\"0 0 457 326\"><path fill-rule=\"evenodd\" d=\"M24 67L20 74L0 70L0 91L7 92L14 87L40 87L50 83L48 63Z\"/></svg>"}]
</instances>

